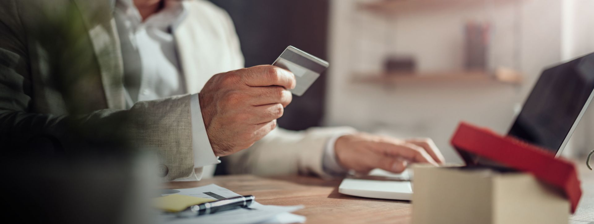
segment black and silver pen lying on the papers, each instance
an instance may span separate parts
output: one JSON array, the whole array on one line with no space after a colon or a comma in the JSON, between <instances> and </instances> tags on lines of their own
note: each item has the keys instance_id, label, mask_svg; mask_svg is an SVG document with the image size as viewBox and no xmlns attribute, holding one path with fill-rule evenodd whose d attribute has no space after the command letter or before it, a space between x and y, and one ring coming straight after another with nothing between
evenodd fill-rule
<instances>
[{"instance_id":1,"label":"black and silver pen lying on the papers","mask_svg":"<svg viewBox=\"0 0 594 224\"><path fill-rule=\"evenodd\" d=\"M255 200L254 196L239 196L239 197L231 197L229 199L223 199L218 201L211 201L202 204L196 204L193 206L188 207L188 209L184 210L183 212L179 212L178 216L201 216L201 215L208 215L216 212L222 212L226 210L233 210L239 208L247 208L252 201Z\"/></svg>"}]
</instances>

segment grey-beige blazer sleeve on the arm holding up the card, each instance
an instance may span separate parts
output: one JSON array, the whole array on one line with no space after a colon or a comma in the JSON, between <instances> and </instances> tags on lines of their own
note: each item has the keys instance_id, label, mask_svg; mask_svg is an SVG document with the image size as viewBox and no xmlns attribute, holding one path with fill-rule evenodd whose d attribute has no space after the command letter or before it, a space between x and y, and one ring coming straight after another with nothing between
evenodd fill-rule
<instances>
[{"instance_id":1,"label":"grey-beige blazer sleeve on the arm holding up the card","mask_svg":"<svg viewBox=\"0 0 594 224\"><path fill-rule=\"evenodd\" d=\"M129 110L66 116L35 113L30 46L17 12L15 1L0 2L0 153L34 154L29 151L45 146L66 155L91 148L142 148L156 151L167 170L163 180L193 174L190 95L143 101Z\"/></svg>"}]
</instances>

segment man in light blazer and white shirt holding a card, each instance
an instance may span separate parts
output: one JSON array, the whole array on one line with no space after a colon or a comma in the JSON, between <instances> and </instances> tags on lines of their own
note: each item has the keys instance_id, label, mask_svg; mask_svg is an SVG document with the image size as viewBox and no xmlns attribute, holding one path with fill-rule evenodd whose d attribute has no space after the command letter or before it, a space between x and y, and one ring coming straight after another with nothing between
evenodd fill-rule
<instances>
[{"instance_id":1,"label":"man in light blazer and white shirt holding a card","mask_svg":"<svg viewBox=\"0 0 594 224\"><path fill-rule=\"evenodd\" d=\"M125 136L156 149L165 181L208 177L218 156L233 173L323 177L444 161L429 139L274 130L294 75L243 68L232 21L203 0L4 0L0 59L12 147L49 139L72 153Z\"/></svg>"}]
</instances>

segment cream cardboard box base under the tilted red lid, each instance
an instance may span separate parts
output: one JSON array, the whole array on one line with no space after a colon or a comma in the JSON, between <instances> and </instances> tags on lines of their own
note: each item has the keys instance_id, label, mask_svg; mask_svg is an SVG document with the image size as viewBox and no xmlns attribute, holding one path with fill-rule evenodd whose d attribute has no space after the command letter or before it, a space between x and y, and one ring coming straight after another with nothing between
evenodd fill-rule
<instances>
[{"instance_id":1,"label":"cream cardboard box base under the tilted red lid","mask_svg":"<svg viewBox=\"0 0 594 224\"><path fill-rule=\"evenodd\" d=\"M563 193L525 172L423 165L413 171L413 224L568 223Z\"/></svg>"}]
</instances>

